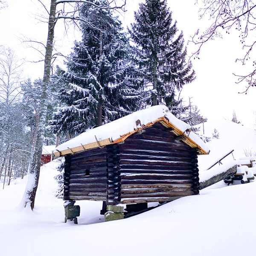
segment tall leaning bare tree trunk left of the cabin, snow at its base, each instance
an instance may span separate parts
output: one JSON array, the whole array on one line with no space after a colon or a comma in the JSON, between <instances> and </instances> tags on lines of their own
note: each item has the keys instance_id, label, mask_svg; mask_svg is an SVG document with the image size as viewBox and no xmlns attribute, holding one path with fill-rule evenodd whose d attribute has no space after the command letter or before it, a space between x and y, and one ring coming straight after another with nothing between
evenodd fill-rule
<instances>
[{"instance_id":1,"label":"tall leaning bare tree trunk left of the cabin, snow at its base","mask_svg":"<svg viewBox=\"0 0 256 256\"><path fill-rule=\"evenodd\" d=\"M46 54L44 61L44 83L42 88L42 96L39 109L38 118L38 130L35 141L35 148L32 154L32 163L29 170L29 180L25 189L23 196L23 206L30 206L31 209L35 205L35 194L38 187L38 180L40 174L40 165L42 157L42 147L44 140L44 130L45 121L47 113L47 101L48 101L48 91L50 83L51 74L51 61L52 61L52 47L53 47L53 37L54 37L54 26L55 26L55 14L56 14L56 0L51 0L50 15L49 15L49 26L48 26L48 37Z\"/></svg>"}]
</instances>

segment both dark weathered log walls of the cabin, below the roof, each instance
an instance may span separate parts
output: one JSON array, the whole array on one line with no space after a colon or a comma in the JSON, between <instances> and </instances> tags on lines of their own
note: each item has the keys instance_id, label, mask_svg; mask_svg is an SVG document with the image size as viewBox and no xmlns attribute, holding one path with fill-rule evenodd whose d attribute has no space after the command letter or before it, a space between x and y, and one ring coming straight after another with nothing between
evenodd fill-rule
<instances>
[{"instance_id":1,"label":"both dark weathered log walls of the cabin, below the roof","mask_svg":"<svg viewBox=\"0 0 256 256\"><path fill-rule=\"evenodd\" d=\"M157 123L143 134L131 135L124 144L72 155L66 195L73 200L129 204L198 193L196 151L175 137Z\"/></svg>"}]
</instances>

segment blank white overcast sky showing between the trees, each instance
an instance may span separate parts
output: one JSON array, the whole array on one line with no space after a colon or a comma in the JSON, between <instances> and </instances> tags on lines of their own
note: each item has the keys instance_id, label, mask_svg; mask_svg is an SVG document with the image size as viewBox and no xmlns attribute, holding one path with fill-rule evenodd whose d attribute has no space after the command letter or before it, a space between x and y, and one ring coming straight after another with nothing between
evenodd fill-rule
<instances>
[{"instance_id":1,"label":"blank white overcast sky showing between the trees","mask_svg":"<svg viewBox=\"0 0 256 256\"><path fill-rule=\"evenodd\" d=\"M36 15L43 14L47 17L46 12L37 0L6 0L6 2L8 8L0 11L0 45L14 49L19 58L27 61L38 60L40 54L35 49L29 48L28 44L22 43L22 40L27 38L45 44L47 23L40 22ZM43 2L49 7L50 0ZM120 17L124 27L134 21L134 11L143 0L127 0L127 2L127 12ZM198 28L204 27L209 22L199 20L198 6L194 2L194 0L168 0L173 20L177 20L177 28L183 31L185 41ZM66 34L61 23L56 26L55 48L59 52L68 55L75 39L79 40L80 36L73 28L70 28ZM188 47L188 55L190 51L191 47ZM244 125L252 126L256 122L254 114L256 89L250 90L247 95L238 93L244 90L244 86L236 84L233 73L250 68L235 63L238 57L241 57L241 45L237 36L225 35L222 39L209 41L201 50L200 60L193 60L197 79L184 86L181 95L187 102L188 97L192 97L192 102L208 119L231 119L235 110L237 118ZM63 65L63 59L57 60L56 64ZM26 62L23 74L26 78L32 79L42 77L43 63Z\"/></svg>"}]
</instances>

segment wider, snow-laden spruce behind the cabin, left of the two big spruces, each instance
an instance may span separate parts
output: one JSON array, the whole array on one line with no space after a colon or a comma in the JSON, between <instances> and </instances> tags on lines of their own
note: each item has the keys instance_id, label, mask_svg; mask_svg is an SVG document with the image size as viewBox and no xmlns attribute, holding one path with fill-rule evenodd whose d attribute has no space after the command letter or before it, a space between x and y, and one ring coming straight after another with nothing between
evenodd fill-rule
<instances>
[{"instance_id":1,"label":"wider, snow-laden spruce behind the cabin, left of the two big spruces","mask_svg":"<svg viewBox=\"0 0 256 256\"><path fill-rule=\"evenodd\" d=\"M107 5L106 0L91 1ZM139 108L141 92L131 75L131 46L121 22L111 10L88 5L81 17L82 41L75 41L67 72L58 80L66 86L60 96L63 106L50 123L57 134L79 134Z\"/></svg>"}]
</instances>

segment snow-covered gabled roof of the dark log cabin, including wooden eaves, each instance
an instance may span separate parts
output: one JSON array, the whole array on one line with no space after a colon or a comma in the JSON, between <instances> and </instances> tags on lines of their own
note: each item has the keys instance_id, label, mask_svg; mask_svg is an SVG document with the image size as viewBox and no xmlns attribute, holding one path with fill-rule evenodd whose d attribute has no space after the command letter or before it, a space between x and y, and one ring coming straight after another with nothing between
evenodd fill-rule
<instances>
[{"instance_id":1,"label":"snow-covered gabled roof of the dark log cabin, including wooden eaves","mask_svg":"<svg viewBox=\"0 0 256 256\"><path fill-rule=\"evenodd\" d=\"M166 106L158 105L141 111L134 112L108 124L93 128L79 136L59 145L55 150L55 156L70 154L92 148L97 148L120 143L131 134L145 127L161 122L166 127L173 128L173 133L182 135L183 141L192 148L198 148L198 154L208 154L207 145L191 131L191 126L177 119Z\"/></svg>"}]
</instances>

